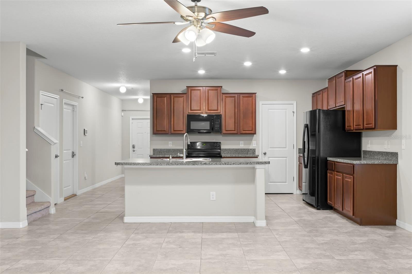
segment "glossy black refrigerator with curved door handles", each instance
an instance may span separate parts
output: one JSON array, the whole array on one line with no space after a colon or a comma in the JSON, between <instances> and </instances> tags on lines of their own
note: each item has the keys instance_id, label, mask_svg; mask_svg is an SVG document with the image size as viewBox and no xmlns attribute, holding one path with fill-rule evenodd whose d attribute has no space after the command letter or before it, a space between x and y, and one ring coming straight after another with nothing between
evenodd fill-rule
<instances>
[{"instance_id":1,"label":"glossy black refrigerator with curved door handles","mask_svg":"<svg viewBox=\"0 0 412 274\"><path fill-rule=\"evenodd\" d=\"M314 109L303 116L303 200L317 209L332 209L326 158L361 157L361 132L346 132L344 110Z\"/></svg>"}]
</instances>

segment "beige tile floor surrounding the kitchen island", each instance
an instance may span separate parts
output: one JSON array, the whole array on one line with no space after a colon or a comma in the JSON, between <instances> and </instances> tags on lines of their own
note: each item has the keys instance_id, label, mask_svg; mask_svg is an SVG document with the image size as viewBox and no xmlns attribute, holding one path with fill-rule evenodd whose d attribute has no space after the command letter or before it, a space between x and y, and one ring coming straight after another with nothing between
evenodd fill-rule
<instances>
[{"instance_id":1,"label":"beige tile floor surrounding the kitchen island","mask_svg":"<svg viewBox=\"0 0 412 274\"><path fill-rule=\"evenodd\" d=\"M412 233L358 226L301 195L253 223L123 223L124 179L0 230L1 273L412 273Z\"/></svg>"}]
</instances>

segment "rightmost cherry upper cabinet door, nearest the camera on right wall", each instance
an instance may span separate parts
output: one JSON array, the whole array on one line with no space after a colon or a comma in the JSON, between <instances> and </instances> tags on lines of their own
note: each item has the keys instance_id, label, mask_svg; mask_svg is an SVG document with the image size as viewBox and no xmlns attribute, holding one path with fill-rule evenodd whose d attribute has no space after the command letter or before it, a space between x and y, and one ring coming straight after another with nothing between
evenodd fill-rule
<instances>
[{"instance_id":1,"label":"rightmost cherry upper cabinet door, nearest the camera on right wall","mask_svg":"<svg viewBox=\"0 0 412 274\"><path fill-rule=\"evenodd\" d=\"M375 128L375 68L363 72L363 128Z\"/></svg>"}]
</instances>

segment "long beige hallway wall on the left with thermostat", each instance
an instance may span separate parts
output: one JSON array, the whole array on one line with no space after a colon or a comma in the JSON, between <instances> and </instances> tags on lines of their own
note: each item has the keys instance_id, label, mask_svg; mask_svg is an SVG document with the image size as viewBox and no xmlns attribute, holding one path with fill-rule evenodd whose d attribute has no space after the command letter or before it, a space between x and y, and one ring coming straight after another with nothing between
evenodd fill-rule
<instances>
[{"instance_id":1,"label":"long beige hallway wall on the left with thermostat","mask_svg":"<svg viewBox=\"0 0 412 274\"><path fill-rule=\"evenodd\" d=\"M28 60L33 57L28 57ZM89 84L86 84L64 72L61 72L54 67L46 65L39 60L28 61L27 74L30 75L32 84L28 87L28 96L32 98L30 101L30 113L28 117L28 138L35 137L33 132L34 126L39 125L39 94L40 91L46 91L60 96L60 133L59 142L63 142L63 127L62 127L62 109L63 99L78 102L78 117L79 117L79 143L77 144L76 152L79 164L78 189L82 190L96 183L100 183L107 179L113 178L122 174L121 167L114 165L115 160L122 158L122 121L121 110L122 100L115 98L108 93L98 90ZM75 96L62 93L59 89L65 89L72 93L84 96L83 99L78 99ZM87 128L89 134L83 135L83 129ZM31 144L29 141L29 145ZM40 140L39 142L44 140ZM83 146L80 147L80 141ZM35 141L33 141L35 142ZM45 141L44 141L45 142ZM30 151L30 148L28 148ZM62 153L60 145L60 155ZM60 158L60 193L59 198L63 197L62 190L62 158ZM38 165L34 158L28 160L27 165ZM84 179L84 172L87 172L88 179ZM32 174L28 174L28 179ZM32 181L36 186L42 189L40 178ZM31 180L30 180L31 181Z\"/></svg>"}]
</instances>

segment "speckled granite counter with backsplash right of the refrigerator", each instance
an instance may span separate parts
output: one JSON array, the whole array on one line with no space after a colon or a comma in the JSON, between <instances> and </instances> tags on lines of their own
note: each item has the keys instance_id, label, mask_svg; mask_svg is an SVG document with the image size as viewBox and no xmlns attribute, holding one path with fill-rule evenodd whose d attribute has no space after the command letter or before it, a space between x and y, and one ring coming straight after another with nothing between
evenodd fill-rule
<instances>
[{"instance_id":1,"label":"speckled granite counter with backsplash right of the refrigerator","mask_svg":"<svg viewBox=\"0 0 412 274\"><path fill-rule=\"evenodd\" d=\"M349 164L398 164L398 153L388 151L362 151L363 157L328 157L329 161Z\"/></svg>"}]
</instances>

